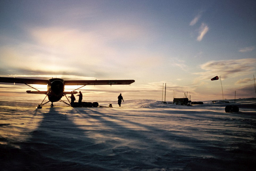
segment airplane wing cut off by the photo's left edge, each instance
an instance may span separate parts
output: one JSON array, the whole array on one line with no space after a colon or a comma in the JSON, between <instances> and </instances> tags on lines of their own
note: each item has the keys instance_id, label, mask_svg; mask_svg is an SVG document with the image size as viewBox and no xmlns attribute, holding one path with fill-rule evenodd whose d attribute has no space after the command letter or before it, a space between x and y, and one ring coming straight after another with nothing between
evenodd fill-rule
<instances>
[{"instance_id":1,"label":"airplane wing cut off by the photo's left edge","mask_svg":"<svg viewBox=\"0 0 256 171\"><path fill-rule=\"evenodd\" d=\"M0 82L20 83L20 84L43 84L43 85L46 85L46 84L49 83L49 80L47 80L47 79L28 79L28 78L0 77Z\"/></svg>"}]
</instances>

